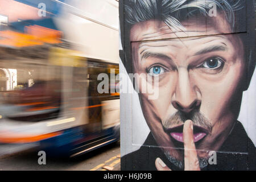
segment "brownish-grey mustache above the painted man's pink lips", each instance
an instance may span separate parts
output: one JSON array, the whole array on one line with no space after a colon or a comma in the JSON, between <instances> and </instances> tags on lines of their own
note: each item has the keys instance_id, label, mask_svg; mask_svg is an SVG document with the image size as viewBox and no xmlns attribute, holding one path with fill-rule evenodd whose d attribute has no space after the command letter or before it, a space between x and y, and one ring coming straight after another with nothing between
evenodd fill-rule
<instances>
[{"instance_id":1,"label":"brownish-grey mustache above the painted man's pink lips","mask_svg":"<svg viewBox=\"0 0 256 182\"><path fill-rule=\"evenodd\" d=\"M170 117L163 121L164 131L170 129L174 125L182 125L185 121L191 119L193 125L197 125L206 129L209 133L212 132L212 125L199 110L193 110L191 113L184 113L182 111L177 111L175 114L172 114Z\"/></svg>"}]
</instances>

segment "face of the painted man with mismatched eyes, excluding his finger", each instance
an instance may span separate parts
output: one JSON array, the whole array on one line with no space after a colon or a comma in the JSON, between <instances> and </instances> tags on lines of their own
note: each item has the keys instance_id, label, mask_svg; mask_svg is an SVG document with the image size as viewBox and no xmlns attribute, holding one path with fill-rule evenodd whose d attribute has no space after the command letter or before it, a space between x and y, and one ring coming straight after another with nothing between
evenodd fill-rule
<instances>
[{"instance_id":1,"label":"face of the painted man with mismatched eyes, excluding his finger","mask_svg":"<svg viewBox=\"0 0 256 182\"><path fill-rule=\"evenodd\" d=\"M184 147L187 119L194 124L197 154L207 158L206 151L217 151L228 137L239 112L243 46L237 35L224 34L231 30L221 22L207 29L193 20L182 22L185 32L174 32L158 20L131 28L133 71L146 80L137 82L139 90L152 86L159 93L153 100L139 93L144 117L164 153L177 160L184 158L177 148Z\"/></svg>"}]
</instances>

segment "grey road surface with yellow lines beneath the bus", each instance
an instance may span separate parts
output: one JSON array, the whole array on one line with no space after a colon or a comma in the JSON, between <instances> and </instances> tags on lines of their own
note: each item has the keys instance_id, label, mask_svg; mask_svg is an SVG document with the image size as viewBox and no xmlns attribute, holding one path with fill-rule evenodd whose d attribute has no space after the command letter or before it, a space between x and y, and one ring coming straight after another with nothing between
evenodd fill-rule
<instances>
[{"instance_id":1,"label":"grey road surface with yellow lines beneath the bus","mask_svg":"<svg viewBox=\"0 0 256 182\"><path fill-rule=\"evenodd\" d=\"M120 170L120 146L113 143L77 158L56 159L46 154L46 164L39 165L35 146L0 144L0 170L67 170L104 171Z\"/></svg>"}]
</instances>

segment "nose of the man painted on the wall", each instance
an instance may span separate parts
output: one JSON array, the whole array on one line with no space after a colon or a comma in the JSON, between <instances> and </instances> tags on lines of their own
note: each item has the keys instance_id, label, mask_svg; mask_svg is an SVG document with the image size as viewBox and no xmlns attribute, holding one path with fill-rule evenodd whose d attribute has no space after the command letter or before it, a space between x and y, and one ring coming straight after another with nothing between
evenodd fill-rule
<instances>
[{"instance_id":1,"label":"nose of the man painted on the wall","mask_svg":"<svg viewBox=\"0 0 256 182\"><path fill-rule=\"evenodd\" d=\"M175 109L190 113L198 109L201 105L201 93L196 85L191 83L189 73L186 68L179 69L179 77L176 84L175 93L172 96L172 105Z\"/></svg>"}]
</instances>

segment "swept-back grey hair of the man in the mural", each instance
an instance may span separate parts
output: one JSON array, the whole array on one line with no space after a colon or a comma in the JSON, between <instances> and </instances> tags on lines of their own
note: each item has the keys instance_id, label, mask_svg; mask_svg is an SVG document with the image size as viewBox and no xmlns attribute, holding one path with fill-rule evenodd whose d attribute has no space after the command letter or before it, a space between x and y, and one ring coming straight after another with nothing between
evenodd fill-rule
<instances>
[{"instance_id":1,"label":"swept-back grey hair of the man in the mural","mask_svg":"<svg viewBox=\"0 0 256 182\"><path fill-rule=\"evenodd\" d=\"M126 21L130 24L150 19L162 19L171 30L185 31L180 23L197 13L209 14L209 5L225 12L226 19L234 28L234 11L243 8L240 0L126 0ZM182 11L186 10L187 12ZM180 19L180 20L178 20Z\"/></svg>"}]
</instances>

